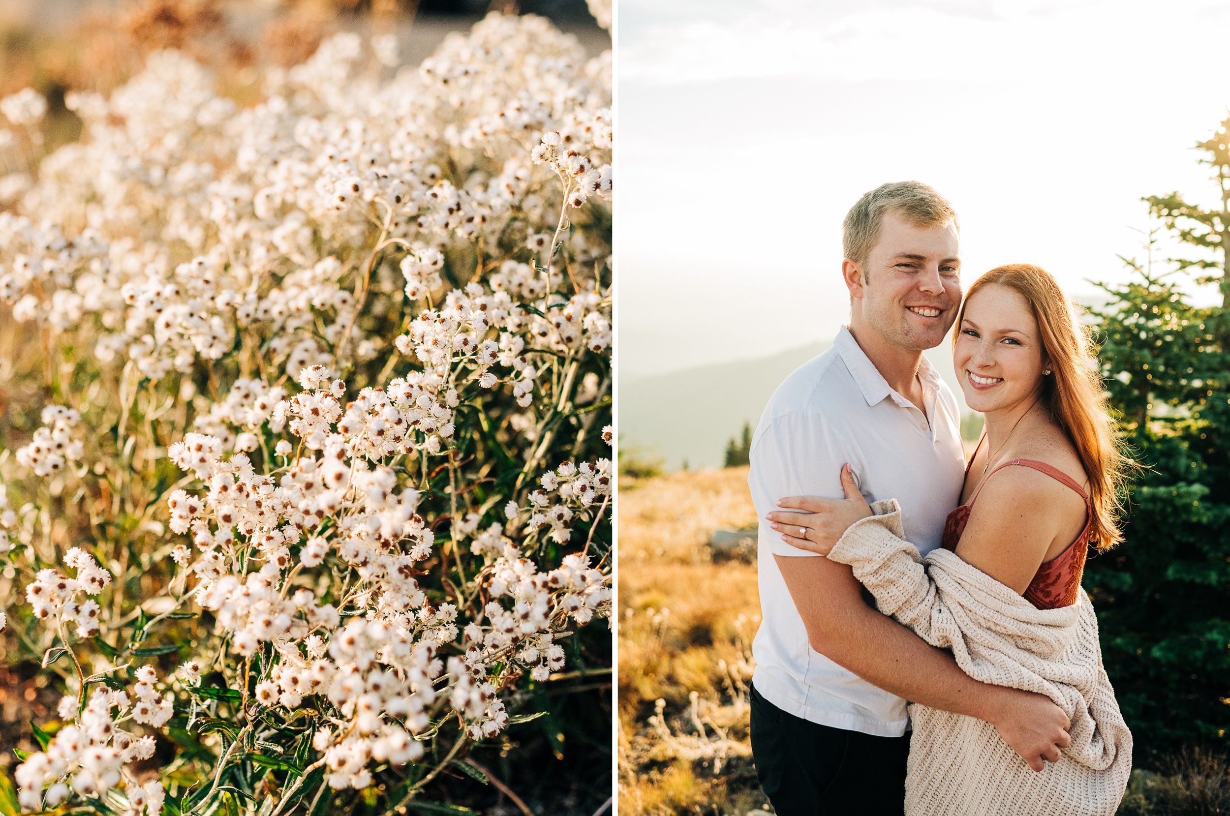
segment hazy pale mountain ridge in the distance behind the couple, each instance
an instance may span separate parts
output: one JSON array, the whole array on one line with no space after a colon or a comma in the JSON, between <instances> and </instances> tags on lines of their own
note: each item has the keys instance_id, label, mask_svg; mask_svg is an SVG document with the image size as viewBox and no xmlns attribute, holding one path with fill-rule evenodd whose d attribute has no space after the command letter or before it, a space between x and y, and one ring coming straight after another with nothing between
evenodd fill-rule
<instances>
[{"instance_id":1,"label":"hazy pale mountain ridge in the distance behind the couple","mask_svg":"<svg viewBox=\"0 0 1230 816\"><path fill-rule=\"evenodd\" d=\"M769 397L786 376L831 343L813 343L753 360L732 360L649 377L621 380L619 434L646 453L657 453L668 471L722 467L726 442L743 423L756 426ZM966 407L947 343L926 353Z\"/></svg>"}]
</instances>

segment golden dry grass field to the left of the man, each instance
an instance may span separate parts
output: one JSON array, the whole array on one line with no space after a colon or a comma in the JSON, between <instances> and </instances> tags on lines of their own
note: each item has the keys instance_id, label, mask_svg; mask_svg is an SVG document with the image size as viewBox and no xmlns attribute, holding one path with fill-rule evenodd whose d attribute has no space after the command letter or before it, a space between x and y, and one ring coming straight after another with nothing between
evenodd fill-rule
<instances>
[{"instance_id":1,"label":"golden dry grass field to the left of the man","mask_svg":"<svg viewBox=\"0 0 1230 816\"><path fill-rule=\"evenodd\" d=\"M755 526L748 468L620 484L620 811L768 809L748 742L754 563L713 563L720 527Z\"/></svg>"}]
</instances>

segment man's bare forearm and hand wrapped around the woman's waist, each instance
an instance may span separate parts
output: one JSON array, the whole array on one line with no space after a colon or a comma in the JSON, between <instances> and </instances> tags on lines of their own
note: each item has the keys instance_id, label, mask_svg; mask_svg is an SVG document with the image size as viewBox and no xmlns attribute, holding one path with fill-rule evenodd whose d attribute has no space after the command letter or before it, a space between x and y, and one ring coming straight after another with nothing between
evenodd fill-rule
<instances>
[{"instance_id":1,"label":"man's bare forearm and hand wrapped around the woman's waist","mask_svg":"<svg viewBox=\"0 0 1230 816\"><path fill-rule=\"evenodd\" d=\"M973 680L951 655L868 607L845 564L777 554L774 560L812 649L898 697L986 720L1034 771L1043 758L1059 759L1070 724L1048 697Z\"/></svg>"}]
</instances>

